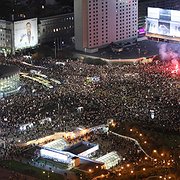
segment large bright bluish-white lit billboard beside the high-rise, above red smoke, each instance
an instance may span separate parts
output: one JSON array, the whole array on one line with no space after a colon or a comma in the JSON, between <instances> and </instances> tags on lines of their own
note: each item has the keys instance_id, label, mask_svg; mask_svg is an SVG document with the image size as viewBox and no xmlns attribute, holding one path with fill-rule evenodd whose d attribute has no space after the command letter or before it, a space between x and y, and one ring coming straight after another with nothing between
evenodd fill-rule
<instances>
[{"instance_id":1,"label":"large bright bluish-white lit billboard beside the high-rise, above red smoke","mask_svg":"<svg viewBox=\"0 0 180 180\"><path fill-rule=\"evenodd\" d=\"M180 38L180 11L149 7L146 33L152 37Z\"/></svg>"}]
</instances>

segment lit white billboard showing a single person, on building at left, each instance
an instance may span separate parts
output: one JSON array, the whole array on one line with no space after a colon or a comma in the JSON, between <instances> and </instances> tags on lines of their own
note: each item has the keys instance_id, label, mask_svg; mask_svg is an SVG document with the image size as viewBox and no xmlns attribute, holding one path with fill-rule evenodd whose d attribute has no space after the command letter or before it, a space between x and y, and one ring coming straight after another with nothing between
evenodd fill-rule
<instances>
[{"instance_id":1,"label":"lit white billboard showing a single person, on building at left","mask_svg":"<svg viewBox=\"0 0 180 180\"><path fill-rule=\"evenodd\" d=\"M24 49L38 44L37 18L14 22L15 49Z\"/></svg>"}]
</instances>

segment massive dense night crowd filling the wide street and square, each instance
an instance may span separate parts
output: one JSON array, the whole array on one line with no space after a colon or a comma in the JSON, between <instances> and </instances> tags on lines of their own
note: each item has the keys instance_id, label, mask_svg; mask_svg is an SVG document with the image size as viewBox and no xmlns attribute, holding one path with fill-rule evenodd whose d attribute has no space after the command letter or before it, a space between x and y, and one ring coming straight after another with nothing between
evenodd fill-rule
<instances>
[{"instance_id":1,"label":"massive dense night crowd filling the wide street and square","mask_svg":"<svg viewBox=\"0 0 180 180\"><path fill-rule=\"evenodd\" d=\"M61 85L53 84L54 88L48 89L21 77L19 93L0 100L3 141L27 141L78 126L92 127L107 123L109 118L180 131L178 81L165 76L168 75L165 70L157 72L163 67L160 64L88 65L81 60L64 60L62 64L53 58L28 60L46 67L38 69L22 64L23 61L27 60L11 57L5 63L16 64L21 72L41 71L49 79L59 80ZM47 117L52 121L41 124L40 120ZM21 131L20 126L27 123L33 127Z\"/></svg>"}]
</instances>

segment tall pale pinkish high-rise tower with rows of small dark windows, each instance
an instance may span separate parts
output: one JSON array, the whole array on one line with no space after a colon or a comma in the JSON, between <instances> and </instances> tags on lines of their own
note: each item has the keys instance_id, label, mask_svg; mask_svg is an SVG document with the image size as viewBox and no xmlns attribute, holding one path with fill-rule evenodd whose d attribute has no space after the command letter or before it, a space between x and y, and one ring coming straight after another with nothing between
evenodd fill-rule
<instances>
[{"instance_id":1,"label":"tall pale pinkish high-rise tower with rows of small dark windows","mask_svg":"<svg viewBox=\"0 0 180 180\"><path fill-rule=\"evenodd\" d=\"M93 52L138 36L138 0L75 0L75 48Z\"/></svg>"}]
</instances>

